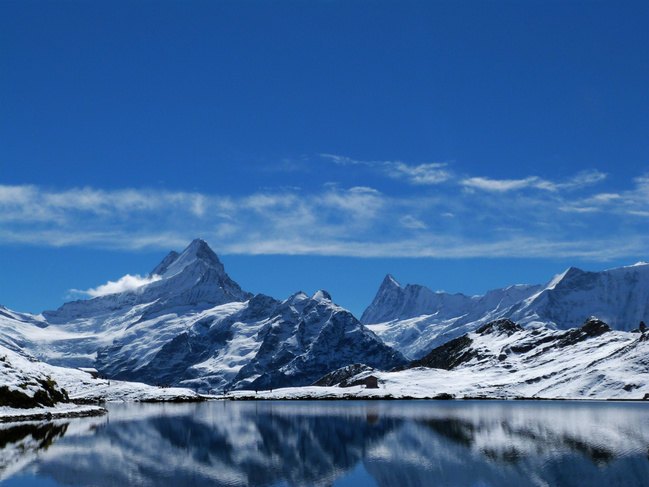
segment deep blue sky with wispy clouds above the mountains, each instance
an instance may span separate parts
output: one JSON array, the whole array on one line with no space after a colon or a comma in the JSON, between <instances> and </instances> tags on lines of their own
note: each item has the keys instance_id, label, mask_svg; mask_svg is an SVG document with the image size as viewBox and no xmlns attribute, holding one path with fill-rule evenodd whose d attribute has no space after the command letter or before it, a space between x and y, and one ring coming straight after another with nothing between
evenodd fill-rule
<instances>
[{"instance_id":1,"label":"deep blue sky with wispy clouds above the mountains","mask_svg":"<svg viewBox=\"0 0 649 487\"><path fill-rule=\"evenodd\" d=\"M0 3L0 303L202 237L281 298L649 259L647 2Z\"/></svg>"}]
</instances>

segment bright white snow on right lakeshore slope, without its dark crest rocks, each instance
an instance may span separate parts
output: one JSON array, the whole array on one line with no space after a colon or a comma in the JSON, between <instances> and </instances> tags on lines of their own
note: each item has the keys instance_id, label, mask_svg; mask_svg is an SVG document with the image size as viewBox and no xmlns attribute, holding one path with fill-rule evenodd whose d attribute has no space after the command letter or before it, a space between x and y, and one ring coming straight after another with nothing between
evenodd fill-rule
<instances>
[{"instance_id":1,"label":"bright white snow on right lakeshore slope, without its dark crest rocks","mask_svg":"<svg viewBox=\"0 0 649 487\"><path fill-rule=\"evenodd\" d=\"M641 340L638 333L611 331L570 348L545 349L541 345L525 353L509 353L504 361L498 360L500 353L512 345L559 337L562 333L550 329L535 335L528 330L511 336L472 333L469 336L473 349L486 358L474 358L454 370L424 367L399 372L374 370L355 377L375 375L379 389L311 386L258 394L240 391L231 395L259 399L398 399L434 398L440 394L456 398L642 399L649 393L649 341ZM625 390L629 385L633 387Z\"/></svg>"}]
</instances>

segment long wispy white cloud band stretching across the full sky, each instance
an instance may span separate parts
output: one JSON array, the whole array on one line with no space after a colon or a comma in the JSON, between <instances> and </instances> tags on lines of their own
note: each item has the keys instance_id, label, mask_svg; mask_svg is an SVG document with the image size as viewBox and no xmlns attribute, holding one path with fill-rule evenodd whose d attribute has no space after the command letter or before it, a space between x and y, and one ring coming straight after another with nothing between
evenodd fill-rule
<instances>
[{"instance_id":1,"label":"long wispy white cloud band stretching across the full sky","mask_svg":"<svg viewBox=\"0 0 649 487\"><path fill-rule=\"evenodd\" d=\"M0 243L166 250L202 236L218 252L239 254L646 255L649 176L635 178L626 189L596 191L592 185L602 177L592 172L561 181L482 178L500 189L465 186L468 178L456 178L406 193L325 184L316 191L286 187L236 197L0 185Z\"/></svg>"}]
</instances>

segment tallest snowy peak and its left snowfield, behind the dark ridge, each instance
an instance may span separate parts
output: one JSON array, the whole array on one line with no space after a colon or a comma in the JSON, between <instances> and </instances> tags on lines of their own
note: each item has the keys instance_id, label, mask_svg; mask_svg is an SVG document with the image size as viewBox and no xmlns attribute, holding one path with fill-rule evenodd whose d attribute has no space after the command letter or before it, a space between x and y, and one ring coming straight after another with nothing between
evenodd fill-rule
<instances>
[{"instance_id":1,"label":"tallest snowy peak and its left snowfield, behind the dark ridge","mask_svg":"<svg viewBox=\"0 0 649 487\"><path fill-rule=\"evenodd\" d=\"M230 279L202 240L194 240L180 254L169 254L152 275L159 279L134 290L66 303L38 316L5 311L0 315L0 343L73 367L94 367L101 350L121 343L123 353L114 360L137 368L205 310L223 303L236 307L252 296Z\"/></svg>"}]
</instances>

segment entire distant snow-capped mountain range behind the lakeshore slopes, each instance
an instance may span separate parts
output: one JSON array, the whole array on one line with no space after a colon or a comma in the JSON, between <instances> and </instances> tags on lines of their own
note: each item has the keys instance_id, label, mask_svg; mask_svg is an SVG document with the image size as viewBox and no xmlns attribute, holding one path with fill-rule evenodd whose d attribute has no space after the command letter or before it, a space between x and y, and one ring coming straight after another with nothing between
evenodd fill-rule
<instances>
[{"instance_id":1,"label":"entire distant snow-capped mountain range behind the lakeshore slopes","mask_svg":"<svg viewBox=\"0 0 649 487\"><path fill-rule=\"evenodd\" d=\"M242 290L200 239L169 253L150 277L134 290L41 315L0 307L0 352L4 347L55 366L95 367L112 379L221 392L306 386L353 364L391 370L421 359L436 367L442 363L436 347L504 318L552 333L579 327L591 315L625 331L649 317L647 264L603 272L570 268L546 285L483 296L403 287L386 276L360 321L326 291L280 301ZM518 338L523 335L514 334ZM624 360L622 354L620 366ZM629 360L637 362L637 354Z\"/></svg>"}]
</instances>

